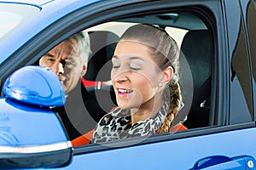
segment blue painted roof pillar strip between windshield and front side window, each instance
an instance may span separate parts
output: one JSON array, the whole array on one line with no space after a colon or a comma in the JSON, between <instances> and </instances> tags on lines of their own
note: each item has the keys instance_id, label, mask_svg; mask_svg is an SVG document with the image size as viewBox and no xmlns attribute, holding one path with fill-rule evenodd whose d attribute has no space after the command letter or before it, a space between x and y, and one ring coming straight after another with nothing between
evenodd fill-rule
<instances>
[{"instance_id":1,"label":"blue painted roof pillar strip between windshield and front side window","mask_svg":"<svg viewBox=\"0 0 256 170\"><path fill-rule=\"evenodd\" d=\"M24 2L21 4L21 2ZM32 2L32 1L28 1ZM35 1L36 2L36 1ZM47 1L48 2L48 1ZM78 0L78 1L67 1L67 0L59 0L59 1L50 1L46 3L46 1L39 6L40 11L36 16L26 22L24 26L20 26L19 30L15 31L13 35L9 36L8 39L1 43L0 51L0 65L3 61L11 54L14 54L17 49L19 49L22 45L24 45L27 41L29 41L32 37L37 35L40 31L43 31L46 27L50 26L56 20L61 19L66 14L73 12L74 10L81 8L83 6L88 6L91 3L96 3L96 0ZM0 5L1 2L0 1ZM19 1L20 5L29 5L26 4L25 1ZM34 3L31 3L34 4ZM39 5L41 3L38 3ZM58 8L56 8L58 6ZM36 8L35 6L31 6L31 8Z\"/></svg>"}]
</instances>

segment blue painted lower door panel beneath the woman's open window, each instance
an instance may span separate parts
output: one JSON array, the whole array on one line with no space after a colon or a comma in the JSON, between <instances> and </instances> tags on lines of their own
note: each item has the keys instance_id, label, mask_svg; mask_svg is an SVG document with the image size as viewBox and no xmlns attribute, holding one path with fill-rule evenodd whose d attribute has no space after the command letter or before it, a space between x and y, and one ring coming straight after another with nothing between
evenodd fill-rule
<instances>
[{"instance_id":1,"label":"blue painted lower door panel beneath the woman's open window","mask_svg":"<svg viewBox=\"0 0 256 170\"><path fill-rule=\"evenodd\" d=\"M248 142L253 139L256 139L255 129L247 128L154 144L96 151L73 156L72 164L62 169L84 169L85 167L86 169L119 169L120 167L122 170L131 170L133 166L136 169L183 170L194 167L195 161L201 158L218 156L220 153L228 157L255 156L253 149L255 144ZM234 149L231 150L230 146ZM236 162L234 164L236 165Z\"/></svg>"}]
</instances>

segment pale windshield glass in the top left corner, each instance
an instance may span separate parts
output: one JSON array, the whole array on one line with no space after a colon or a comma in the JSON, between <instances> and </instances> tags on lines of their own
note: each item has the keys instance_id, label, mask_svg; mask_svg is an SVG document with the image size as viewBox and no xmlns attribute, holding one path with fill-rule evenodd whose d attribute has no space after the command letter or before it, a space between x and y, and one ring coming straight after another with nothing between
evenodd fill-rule
<instances>
[{"instance_id":1,"label":"pale windshield glass in the top left corner","mask_svg":"<svg viewBox=\"0 0 256 170\"><path fill-rule=\"evenodd\" d=\"M22 24L34 18L40 8L21 3L0 3L0 42Z\"/></svg>"}]
</instances>

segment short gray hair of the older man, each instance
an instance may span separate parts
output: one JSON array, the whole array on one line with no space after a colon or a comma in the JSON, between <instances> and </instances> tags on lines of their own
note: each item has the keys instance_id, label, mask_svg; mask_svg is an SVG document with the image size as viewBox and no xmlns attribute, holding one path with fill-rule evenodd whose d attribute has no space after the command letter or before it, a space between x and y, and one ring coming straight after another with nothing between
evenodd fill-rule
<instances>
[{"instance_id":1,"label":"short gray hair of the older man","mask_svg":"<svg viewBox=\"0 0 256 170\"><path fill-rule=\"evenodd\" d=\"M67 40L74 39L78 42L79 56L82 63L84 64L88 61L90 57L90 37L87 31L80 31L79 33L74 34L72 37L69 37Z\"/></svg>"}]
</instances>

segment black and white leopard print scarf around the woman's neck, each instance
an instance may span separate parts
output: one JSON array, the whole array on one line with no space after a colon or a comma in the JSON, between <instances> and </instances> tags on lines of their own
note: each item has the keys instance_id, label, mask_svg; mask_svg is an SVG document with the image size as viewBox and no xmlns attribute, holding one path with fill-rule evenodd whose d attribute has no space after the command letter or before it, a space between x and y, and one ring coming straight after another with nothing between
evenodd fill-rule
<instances>
[{"instance_id":1,"label":"black and white leopard print scarf around the woman's neck","mask_svg":"<svg viewBox=\"0 0 256 170\"><path fill-rule=\"evenodd\" d=\"M92 143L106 142L131 137L149 136L161 127L169 110L169 99L165 99L160 111L151 118L140 121L131 126L130 110L117 108L103 116L97 124Z\"/></svg>"}]
</instances>

